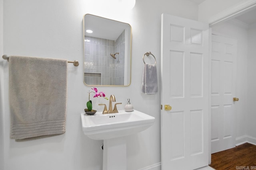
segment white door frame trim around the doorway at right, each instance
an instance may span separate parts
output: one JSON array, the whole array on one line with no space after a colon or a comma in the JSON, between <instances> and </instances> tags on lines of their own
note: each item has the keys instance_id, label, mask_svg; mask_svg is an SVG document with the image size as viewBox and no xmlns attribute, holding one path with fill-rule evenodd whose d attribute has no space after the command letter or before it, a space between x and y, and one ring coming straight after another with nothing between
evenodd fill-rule
<instances>
[{"instance_id":1,"label":"white door frame trim around the doorway at right","mask_svg":"<svg viewBox=\"0 0 256 170\"><path fill-rule=\"evenodd\" d=\"M218 14L212 16L211 18L208 19L208 23L209 23L209 82L208 82L208 105L209 105L209 164L211 164L212 161L212 157L211 157L211 117L212 117L212 112L211 112L211 89L212 89L212 65L211 65L211 61L212 61L212 54L211 54L211 50L212 50L212 27L219 24L219 23L223 23L225 21L228 21L232 18L235 18L237 16L240 16L250 10L256 9L256 0L247 0L246 2L240 2L238 4L236 4L235 6L232 6L231 8L228 8L222 12L219 12ZM235 112L236 114L236 112Z\"/></svg>"}]
</instances>

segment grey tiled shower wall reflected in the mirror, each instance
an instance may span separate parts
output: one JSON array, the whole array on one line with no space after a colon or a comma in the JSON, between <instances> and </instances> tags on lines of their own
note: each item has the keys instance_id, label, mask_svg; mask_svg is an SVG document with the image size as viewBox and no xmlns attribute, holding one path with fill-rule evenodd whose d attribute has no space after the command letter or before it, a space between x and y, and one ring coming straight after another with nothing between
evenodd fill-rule
<instances>
[{"instance_id":1,"label":"grey tiled shower wall reflected in the mirror","mask_svg":"<svg viewBox=\"0 0 256 170\"><path fill-rule=\"evenodd\" d=\"M116 39L84 37L84 81L88 85L124 85L124 31ZM110 56L116 54L116 59Z\"/></svg>"}]
</instances>

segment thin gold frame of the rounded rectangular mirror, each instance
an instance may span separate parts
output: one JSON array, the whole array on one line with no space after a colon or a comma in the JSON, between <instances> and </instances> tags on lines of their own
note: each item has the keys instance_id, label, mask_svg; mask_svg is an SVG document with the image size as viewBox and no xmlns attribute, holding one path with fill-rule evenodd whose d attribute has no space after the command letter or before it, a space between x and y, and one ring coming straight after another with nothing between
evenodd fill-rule
<instances>
[{"instance_id":1,"label":"thin gold frame of the rounded rectangular mirror","mask_svg":"<svg viewBox=\"0 0 256 170\"><path fill-rule=\"evenodd\" d=\"M84 14L83 16L83 61L85 62L85 56L84 56L84 51L85 51L85 45L84 45L84 37L85 37L85 21L84 21L84 18L86 15L91 15L91 16L95 16L95 17L99 17L99 18L102 18L102 19L106 19L106 20L111 20L109 18L104 18L104 17L101 17L101 16L96 16L96 15L92 15L92 14ZM116 20L111 20L111 21L116 21ZM116 21L116 22L120 22L120 23L125 23L125 22L121 22L121 21ZM130 82L129 84L127 85L89 85L89 84L86 84L85 82L85 78L84 78L84 62L83 62L83 82L84 82L84 85L86 86L130 86L131 84L131 81L132 81L132 26L129 24L129 23L125 23L125 24L128 24L130 26L130 31L131 31L131 34L130 34ZM129 50L129 49L128 49ZM129 61L129 60L127 60ZM127 71L128 73L128 71Z\"/></svg>"}]
</instances>

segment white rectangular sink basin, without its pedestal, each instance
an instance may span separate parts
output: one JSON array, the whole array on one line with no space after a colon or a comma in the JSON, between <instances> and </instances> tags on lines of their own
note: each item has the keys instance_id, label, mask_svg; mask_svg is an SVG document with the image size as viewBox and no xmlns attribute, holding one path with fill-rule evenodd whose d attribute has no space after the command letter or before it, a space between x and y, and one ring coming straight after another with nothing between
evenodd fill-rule
<instances>
[{"instance_id":1,"label":"white rectangular sink basin, without its pedestal","mask_svg":"<svg viewBox=\"0 0 256 170\"><path fill-rule=\"evenodd\" d=\"M134 110L119 113L95 115L81 113L82 129L84 134L95 140L106 140L143 131L153 125L155 118Z\"/></svg>"}]
</instances>

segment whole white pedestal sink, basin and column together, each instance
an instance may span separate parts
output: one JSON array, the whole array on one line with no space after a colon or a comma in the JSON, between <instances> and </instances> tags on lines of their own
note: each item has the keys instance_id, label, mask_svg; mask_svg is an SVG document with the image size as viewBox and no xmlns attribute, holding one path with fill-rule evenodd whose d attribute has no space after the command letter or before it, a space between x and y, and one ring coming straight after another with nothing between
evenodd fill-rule
<instances>
[{"instance_id":1,"label":"whole white pedestal sink, basin and column together","mask_svg":"<svg viewBox=\"0 0 256 170\"><path fill-rule=\"evenodd\" d=\"M126 139L124 136L143 131L154 124L155 118L140 111L95 115L81 113L84 134L104 140L103 170L126 170Z\"/></svg>"}]
</instances>

